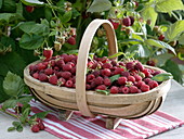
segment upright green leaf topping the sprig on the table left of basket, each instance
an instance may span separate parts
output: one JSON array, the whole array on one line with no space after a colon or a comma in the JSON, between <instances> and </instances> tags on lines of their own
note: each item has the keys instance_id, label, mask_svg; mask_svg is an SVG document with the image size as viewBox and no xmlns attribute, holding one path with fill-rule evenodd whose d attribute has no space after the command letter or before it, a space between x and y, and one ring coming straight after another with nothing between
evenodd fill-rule
<instances>
[{"instance_id":1,"label":"upright green leaf topping the sprig on the table left of basket","mask_svg":"<svg viewBox=\"0 0 184 139\"><path fill-rule=\"evenodd\" d=\"M19 76L11 72L6 74L6 77L3 81L3 89L8 96L17 97L23 94L24 86L25 84Z\"/></svg>"}]
</instances>

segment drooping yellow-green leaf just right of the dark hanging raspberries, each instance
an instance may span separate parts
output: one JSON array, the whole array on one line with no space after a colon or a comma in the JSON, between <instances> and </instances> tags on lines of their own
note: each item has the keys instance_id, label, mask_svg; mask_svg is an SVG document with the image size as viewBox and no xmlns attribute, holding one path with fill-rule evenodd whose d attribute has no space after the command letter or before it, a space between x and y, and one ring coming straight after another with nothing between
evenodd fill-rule
<instances>
[{"instance_id":1,"label":"drooping yellow-green leaf just right of the dark hanging raspberries","mask_svg":"<svg viewBox=\"0 0 184 139\"><path fill-rule=\"evenodd\" d=\"M155 8L153 5L145 7L142 11L142 16L145 21L150 20L150 27L153 28L155 26L155 23L157 21L158 13L155 11Z\"/></svg>"}]
</instances>

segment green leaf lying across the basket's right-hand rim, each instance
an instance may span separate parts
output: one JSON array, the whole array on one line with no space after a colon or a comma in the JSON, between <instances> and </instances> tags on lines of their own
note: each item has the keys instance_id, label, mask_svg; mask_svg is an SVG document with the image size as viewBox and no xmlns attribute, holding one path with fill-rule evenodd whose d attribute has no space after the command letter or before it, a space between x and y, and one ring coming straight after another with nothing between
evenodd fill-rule
<instances>
[{"instance_id":1,"label":"green leaf lying across the basket's right-hand rim","mask_svg":"<svg viewBox=\"0 0 184 139\"><path fill-rule=\"evenodd\" d=\"M173 78L173 76L170 73L162 73L162 74L158 74L158 75L152 77L152 79L156 80L156 81L165 81L165 80L172 79L172 78Z\"/></svg>"}]
</instances>

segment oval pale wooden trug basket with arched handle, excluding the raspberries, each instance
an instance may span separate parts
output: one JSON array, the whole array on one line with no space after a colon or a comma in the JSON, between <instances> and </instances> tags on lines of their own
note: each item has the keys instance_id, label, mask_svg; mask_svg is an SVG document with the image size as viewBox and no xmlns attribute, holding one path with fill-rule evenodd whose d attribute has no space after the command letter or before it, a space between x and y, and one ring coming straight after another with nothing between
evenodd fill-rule
<instances>
[{"instance_id":1,"label":"oval pale wooden trug basket with arched handle, excluding the raspberries","mask_svg":"<svg viewBox=\"0 0 184 139\"><path fill-rule=\"evenodd\" d=\"M29 75L29 65L24 71L24 80L41 102L56 109L80 111L84 116L107 115L109 118L107 119L106 127L115 128L115 124L119 118L139 118L158 110L170 89L171 80L163 81L158 87L144 93L104 96L94 91L86 91L88 54L93 36L101 25L106 30L109 55L118 52L117 39L110 22L94 20L86 29L80 43L76 89L57 87L32 78ZM38 61L35 63L38 63ZM146 67L162 71L157 67Z\"/></svg>"}]
</instances>

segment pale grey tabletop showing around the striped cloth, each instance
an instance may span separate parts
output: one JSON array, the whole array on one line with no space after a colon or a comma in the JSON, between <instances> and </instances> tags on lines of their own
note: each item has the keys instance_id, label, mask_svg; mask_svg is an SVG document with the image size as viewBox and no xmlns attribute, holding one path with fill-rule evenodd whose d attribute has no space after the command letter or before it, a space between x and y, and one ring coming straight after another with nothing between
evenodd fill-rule
<instances>
[{"instance_id":1,"label":"pale grey tabletop showing around the striped cloth","mask_svg":"<svg viewBox=\"0 0 184 139\"><path fill-rule=\"evenodd\" d=\"M184 87L172 80L172 87L159 110L184 119ZM47 131L34 134L28 126L22 132L8 132L6 129L12 125L13 121L16 119L0 112L0 139L58 139ZM184 139L184 126L154 136L152 139Z\"/></svg>"}]
</instances>

